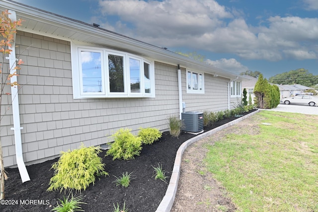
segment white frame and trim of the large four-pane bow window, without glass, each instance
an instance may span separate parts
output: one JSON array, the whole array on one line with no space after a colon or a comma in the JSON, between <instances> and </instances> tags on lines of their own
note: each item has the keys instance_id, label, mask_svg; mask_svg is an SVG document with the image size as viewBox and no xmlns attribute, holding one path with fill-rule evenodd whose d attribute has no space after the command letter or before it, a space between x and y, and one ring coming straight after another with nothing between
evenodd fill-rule
<instances>
[{"instance_id":1,"label":"white frame and trim of the large four-pane bow window, without glass","mask_svg":"<svg viewBox=\"0 0 318 212\"><path fill-rule=\"evenodd\" d=\"M86 98L140 98L150 97L155 98L155 66L154 61L146 59L137 55L132 55L125 52L110 50L106 48L91 47L91 46L79 46L74 43L71 44L72 55L72 80L73 80L73 97L74 99L86 99ZM82 90L82 71L80 63L80 50L99 52L103 57L102 66L102 92L83 92ZM119 55L124 57L124 92L115 93L110 92L109 88L109 67L108 67L108 54ZM140 61L140 93L131 92L130 86L130 70L129 70L129 58L137 59ZM150 93L145 91L145 79L144 79L144 63L149 65L150 75Z\"/></svg>"}]
</instances>

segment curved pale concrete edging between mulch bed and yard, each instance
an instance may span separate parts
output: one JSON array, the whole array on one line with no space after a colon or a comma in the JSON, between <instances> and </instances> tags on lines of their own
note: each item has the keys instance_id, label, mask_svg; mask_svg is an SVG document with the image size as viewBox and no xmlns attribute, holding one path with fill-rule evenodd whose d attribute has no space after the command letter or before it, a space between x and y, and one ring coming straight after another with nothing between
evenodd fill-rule
<instances>
[{"instance_id":1,"label":"curved pale concrete edging between mulch bed and yard","mask_svg":"<svg viewBox=\"0 0 318 212\"><path fill-rule=\"evenodd\" d=\"M220 127L217 127L215 129L212 129L210 131L207 131L203 134L200 134L196 137L193 137L187 141L185 141L184 143L181 144L181 146L178 148L176 156L175 156L175 160L174 160L174 165L173 165L173 170L172 170L172 174L171 174L171 178L170 178L170 182L167 188L167 191L162 199L162 201L159 204L159 207L157 208L156 212L170 212L174 199L175 199L175 195L177 192L177 188L178 188L178 182L179 182L179 175L180 175L180 167L181 167L181 159L182 159L182 154L184 152L184 150L191 145L192 143L199 141L203 138L206 138L208 136L211 136L225 128L228 128L232 125L235 125L237 123L239 123L240 121L254 115L255 113L258 113L260 110L256 110L252 113L249 113L245 116L242 116L236 120L233 120L232 122L229 122L225 125L222 125Z\"/></svg>"}]
</instances>

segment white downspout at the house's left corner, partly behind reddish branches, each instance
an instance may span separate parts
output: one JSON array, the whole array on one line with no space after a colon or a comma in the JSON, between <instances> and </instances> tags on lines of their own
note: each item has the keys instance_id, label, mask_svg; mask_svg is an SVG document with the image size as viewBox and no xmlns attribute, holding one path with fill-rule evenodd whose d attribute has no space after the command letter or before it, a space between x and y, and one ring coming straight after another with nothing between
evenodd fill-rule
<instances>
[{"instance_id":1,"label":"white downspout at the house's left corner, partly behind reddish branches","mask_svg":"<svg viewBox=\"0 0 318 212\"><path fill-rule=\"evenodd\" d=\"M15 11L9 10L9 18L12 21L16 21ZM12 52L9 54L9 66L10 73L13 74L15 71L13 68L16 67L16 58L15 58L15 35L13 39L12 47L9 48ZM17 81L16 75L13 75L10 78L11 83ZM18 166L22 183L29 181L30 177L26 170L23 156L22 156L22 140L21 140L21 130L23 129L20 125L20 111L19 111L19 98L18 98L18 86L11 86L11 99L12 99L12 115L13 115L13 128L14 131L14 141L15 141L15 157L16 164Z\"/></svg>"}]
</instances>

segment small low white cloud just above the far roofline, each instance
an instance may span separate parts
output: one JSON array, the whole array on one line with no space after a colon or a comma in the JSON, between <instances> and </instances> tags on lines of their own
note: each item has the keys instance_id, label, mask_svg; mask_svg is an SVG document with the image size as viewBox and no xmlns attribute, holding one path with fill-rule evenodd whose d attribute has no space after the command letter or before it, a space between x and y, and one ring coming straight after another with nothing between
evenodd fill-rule
<instances>
[{"instance_id":1,"label":"small low white cloud just above the far roofline","mask_svg":"<svg viewBox=\"0 0 318 212\"><path fill-rule=\"evenodd\" d=\"M211 60L206 60L207 64L210 64L212 66L215 66L216 68L222 69L222 70L226 70L226 71L231 71L233 73L240 73L240 72L245 72L246 70L248 70L247 67L243 66L242 64L240 64L236 59L231 58L231 59L225 59L222 58L220 60L216 60L216 61L211 61Z\"/></svg>"}]
</instances>

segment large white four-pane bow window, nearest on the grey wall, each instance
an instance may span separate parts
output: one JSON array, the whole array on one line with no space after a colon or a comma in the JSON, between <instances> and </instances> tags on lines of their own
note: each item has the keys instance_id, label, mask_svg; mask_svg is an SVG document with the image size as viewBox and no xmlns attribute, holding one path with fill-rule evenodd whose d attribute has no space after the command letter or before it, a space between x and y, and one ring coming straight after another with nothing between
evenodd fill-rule
<instances>
[{"instance_id":1,"label":"large white four-pane bow window, nearest on the grey wall","mask_svg":"<svg viewBox=\"0 0 318 212\"><path fill-rule=\"evenodd\" d=\"M74 98L155 97L154 63L124 52L76 47Z\"/></svg>"}]
</instances>

